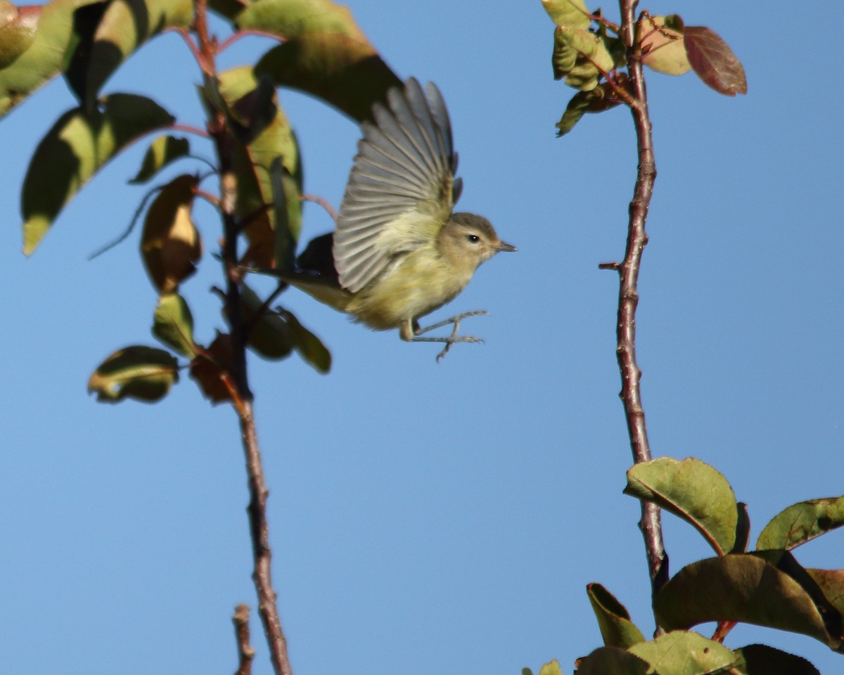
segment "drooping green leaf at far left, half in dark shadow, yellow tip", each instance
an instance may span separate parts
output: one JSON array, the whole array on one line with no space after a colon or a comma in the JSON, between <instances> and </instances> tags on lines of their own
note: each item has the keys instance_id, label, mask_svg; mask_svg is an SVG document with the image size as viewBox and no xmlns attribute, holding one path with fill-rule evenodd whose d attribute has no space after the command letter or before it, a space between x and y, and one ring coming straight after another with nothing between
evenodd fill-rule
<instances>
[{"instance_id":1,"label":"drooping green leaf at far left, half in dark shadow, yellow tip","mask_svg":"<svg viewBox=\"0 0 844 675\"><path fill-rule=\"evenodd\" d=\"M111 94L89 115L74 108L59 117L35 148L24 178L24 253L35 251L62 208L112 157L172 123L164 108L135 94Z\"/></svg>"}]
</instances>

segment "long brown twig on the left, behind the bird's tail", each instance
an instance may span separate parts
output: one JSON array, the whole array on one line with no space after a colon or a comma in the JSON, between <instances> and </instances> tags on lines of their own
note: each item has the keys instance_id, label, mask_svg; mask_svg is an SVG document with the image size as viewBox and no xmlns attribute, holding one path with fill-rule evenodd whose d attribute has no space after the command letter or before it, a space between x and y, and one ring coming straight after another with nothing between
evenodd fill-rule
<instances>
[{"instance_id":1,"label":"long brown twig on the left, behind the bird's tail","mask_svg":"<svg viewBox=\"0 0 844 675\"><path fill-rule=\"evenodd\" d=\"M199 56L206 86L216 86L215 57L217 45L208 35L208 0L197 0L193 29L197 34ZM214 141L219 159L219 211L223 219L222 258L226 272L225 309L229 319L232 338L232 365L230 379L233 385L232 402L241 425L241 442L246 456L246 470L249 483L249 528L252 533L252 554L254 569L252 580L258 596L258 614L261 617L264 634L273 661L276 675L292 675L287 654L287 640L281 628L276 593L270 575L272 551L269 546L267 522L267 498L269 491L264 480L261 451L257 443L255 418L252 411L252 392L246 373L246 326L241 307L241 274L238 266L238 235L241 224L235 216L237 181L233 168L234 137L229 122L220 111L211 111L208 119L208 134Z\"/></svg>"}]
</instances>

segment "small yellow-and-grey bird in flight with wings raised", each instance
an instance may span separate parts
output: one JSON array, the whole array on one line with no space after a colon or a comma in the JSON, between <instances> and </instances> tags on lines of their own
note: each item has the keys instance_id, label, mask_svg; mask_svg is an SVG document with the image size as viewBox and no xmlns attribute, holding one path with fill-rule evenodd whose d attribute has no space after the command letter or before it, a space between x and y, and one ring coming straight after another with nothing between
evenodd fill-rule
<instances>
[{"instance_id":1,"label":"small yellow-and-grey bird in flight with wings raised","mask_svg":"<svg viewBox=\"0 0 844 675\"><path fill-rule=\"evenodd\" d=\"M458 335L469 311L429 327L419 319L453 300L479 265L500 251L490 221L453 212L463 181L445 101L436 84L409 78L388 89L361 124L333 233L312 240L283 280L376 331L398 328L408 342L479 343ZM431 330L453 326L450 335Z\"/></svg>"}]
</instances>

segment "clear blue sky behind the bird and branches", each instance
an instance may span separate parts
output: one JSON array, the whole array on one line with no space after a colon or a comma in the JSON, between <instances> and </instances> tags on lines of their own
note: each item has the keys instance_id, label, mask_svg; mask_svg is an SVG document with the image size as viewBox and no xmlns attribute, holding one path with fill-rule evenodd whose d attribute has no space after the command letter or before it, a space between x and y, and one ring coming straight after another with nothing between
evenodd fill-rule
<instances>
[{"instance_id":1,"label":"clear blue sky behind the bird and branches","mask_svg":"<svg viewBox=\"0 0 844 675\"><path fill-rule=\"evenodd\" d=\"M649 73L657 153L638 348L655 456L696 456L749 504L752 537L799 500L844 493L840 336L844 9L803 30L759 3L658 3L716 30L749 94ZM600 645L584 587L599 581L652 628L638 504L614 357L617 277L636 153L629 114L589 116L555 138L573 90L551 78L540 3L351 3L401 76L435 81L464 179L460 208L519 247L481 267L436 316L486 309L485 338L436 365L436 345L374 333L291 291L282 302L333 352L331 375L295 357L252 359L271 489L273 575L297 675L342 670L534 671ZM614 7L604 10L614 16ZM242 41L225 65L271 43ZM151 94L198 123L183 43L145 46L106 92ZM282 92L306 189L342 197L358 132ZM101 406L85 393L116 348L154 343L155 293L138 234L131 148L20 253L19 187L41 135L73 99L50 84L0 124L7 354L0 471L3 672L233 672L230 615L255 606L246 478L235 416L186 378L165 402ZM208 150L206 150L208 152ZM174 171L186 170L187 163ZM219 224L197 211L206 257L184 286L199 338L221 327L208 294ZM306 207L305 234L331 224ZM267 287L269 288L269 287ZM453 313L452 312L452 313ZM664 518L672 570L710 555ZM841 568L841 533L798 549ZM254 672L270 672L253 613ZM740 627L728 645L775 645L838 672L841 656L798 635Z\"/></svg>"}]
</instances>

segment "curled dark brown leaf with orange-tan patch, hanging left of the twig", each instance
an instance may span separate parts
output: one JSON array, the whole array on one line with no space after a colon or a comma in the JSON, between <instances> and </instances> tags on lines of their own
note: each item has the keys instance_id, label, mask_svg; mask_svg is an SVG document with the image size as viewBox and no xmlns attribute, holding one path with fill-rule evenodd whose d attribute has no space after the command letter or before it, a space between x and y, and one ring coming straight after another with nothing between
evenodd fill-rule
<instances>
[{"instance_id":1,"label":"curled dark brown leaf with orange-tan patch, hanging left of the twig","mask_svg":"<svg viewBox=\"0 0 844 675\"><path fill-rule=\"evenodd\" d=\"M191 208L195 175L180 175L165 185L143 219L141 256L149 279L160 294L173 293L196 272L203 242Z\"/></svg>"}]
</instances>

